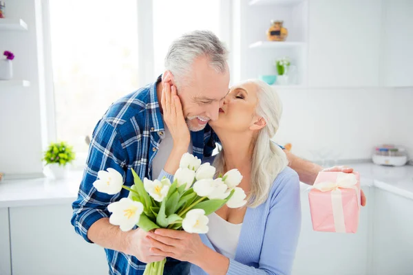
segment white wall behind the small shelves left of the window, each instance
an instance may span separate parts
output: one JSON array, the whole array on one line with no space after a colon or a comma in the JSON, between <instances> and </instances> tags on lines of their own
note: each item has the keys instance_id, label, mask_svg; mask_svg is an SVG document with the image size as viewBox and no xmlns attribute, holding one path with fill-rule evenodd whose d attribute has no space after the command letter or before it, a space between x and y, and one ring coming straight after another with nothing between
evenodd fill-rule
<instances>
[{"instance_id":1,"label":"white wall behind the small shelves left of the window","mask_svg":"<svg viewBox=\"0 0 413 275\"><path fill-rule=\"evenodd\" d=\"M37 174L42 171L41 111L36 12L40 0L7 1L6 16L28 23L28 32L1 32L0 52L10 50L14 78L30 80L28 88L0 91L0 171Z\"/></svg>"}]
</instances>

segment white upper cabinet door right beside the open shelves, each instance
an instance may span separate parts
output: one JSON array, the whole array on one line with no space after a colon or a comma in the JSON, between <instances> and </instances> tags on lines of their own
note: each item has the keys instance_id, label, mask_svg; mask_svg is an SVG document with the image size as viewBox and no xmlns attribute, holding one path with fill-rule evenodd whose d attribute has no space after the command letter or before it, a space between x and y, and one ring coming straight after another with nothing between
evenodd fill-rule
<instances>
[{"instance_id":1,"label":"white upper cabinet door right beside the open shelves","mask_svg":"<svg viewBox=\"0 0 413 275\"><path fill-rule=\"evenodd\" d=\"M379 85L381 1L311 0L308 17L310 87Z\"/></svg>"}]
</instances>

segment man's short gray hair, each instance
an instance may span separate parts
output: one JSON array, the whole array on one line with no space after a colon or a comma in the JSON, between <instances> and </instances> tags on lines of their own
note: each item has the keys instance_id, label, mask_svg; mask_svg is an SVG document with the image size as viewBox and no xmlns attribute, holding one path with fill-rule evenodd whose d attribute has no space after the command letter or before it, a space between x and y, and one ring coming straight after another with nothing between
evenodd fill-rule
<instances>
[{"instance_id":1,"label":"man's short gray hair","mask_svg":"<svg viewBox=\"0 0 413 275\"><path fill-rule=\"evenodd\" d=\"M208 30L195 30L173 41L165 57L165 69L180 82L191 71L195 58L200 56L209 58L209 64L216 72L226 72L228 50L218 36Z\"/></svg>"}]
</instances>

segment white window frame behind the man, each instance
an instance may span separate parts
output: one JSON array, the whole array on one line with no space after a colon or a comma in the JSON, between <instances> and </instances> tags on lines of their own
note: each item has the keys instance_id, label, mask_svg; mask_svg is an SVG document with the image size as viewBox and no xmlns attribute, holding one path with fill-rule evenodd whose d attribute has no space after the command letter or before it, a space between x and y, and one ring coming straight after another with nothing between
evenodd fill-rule
<instances>
[{"instance_id":1,"label":"white window frame behind the man","mask_svg":"<svg viewBox=\"0 0 413 275\"><path fill-rule=\"evenodd\" d=\"M220 34L229 51L232 47L232 5L237 0L221 0L220 7ZM45 110L45 122L42 129L43 149L50 142L56 141L56 113L54 100L53 66L52 66L52 41L50 36L50 0L41 0L42 17L41 26L43 32L43 62L45 97L41 100ZM154 55L153 55L153 3L148 0L136 0L138 23L138 85L142 87L154 80ZM231 56L231 55L230 55ZM232 58L229 58L229 67L232 71ZM156 77L156 76L155 76ZM137 87L138 88L138 87ZM87 154L76 154L72 165L73 170L82 170L85 167Z\"/></svg>"}]
</instances>

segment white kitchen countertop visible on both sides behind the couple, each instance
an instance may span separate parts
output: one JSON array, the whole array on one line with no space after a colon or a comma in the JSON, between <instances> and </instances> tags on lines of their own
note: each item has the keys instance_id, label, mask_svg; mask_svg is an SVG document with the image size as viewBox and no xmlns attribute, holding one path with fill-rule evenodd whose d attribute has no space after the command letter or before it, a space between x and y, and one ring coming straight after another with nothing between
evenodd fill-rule
<instances>
[{"instance_id":1,"label":"white kitchen countertop visible on both sides behind the couple","mask_svg":"<svg viewBox=\"0 0 413 275\"><path fill-rule=\"evenodd\" d=\"M386 167L372 163L347 164L361 175L361 187L374 186L413 199L413 166ZM72 203L83 171L67 179L9 179L0 181L0 208Z\"/></svg>"}]
</instances>

